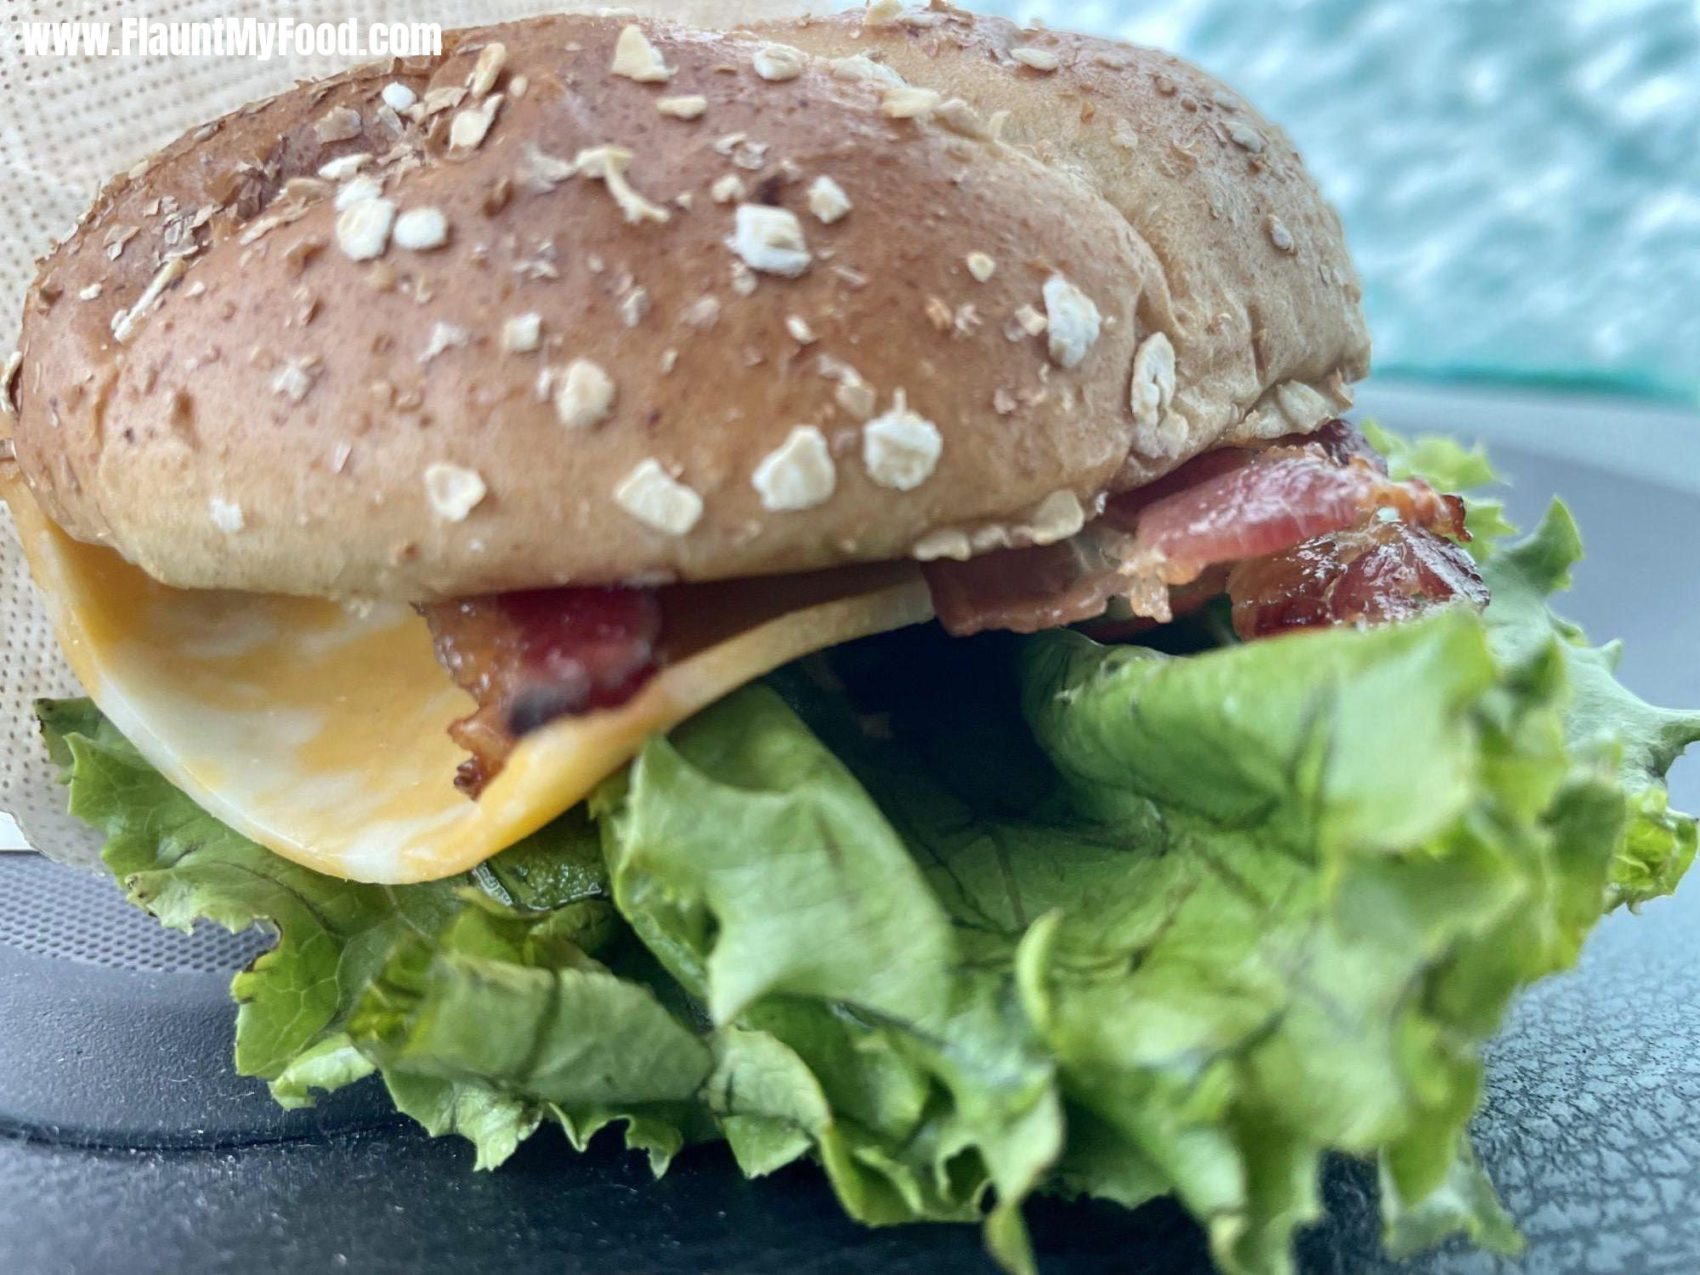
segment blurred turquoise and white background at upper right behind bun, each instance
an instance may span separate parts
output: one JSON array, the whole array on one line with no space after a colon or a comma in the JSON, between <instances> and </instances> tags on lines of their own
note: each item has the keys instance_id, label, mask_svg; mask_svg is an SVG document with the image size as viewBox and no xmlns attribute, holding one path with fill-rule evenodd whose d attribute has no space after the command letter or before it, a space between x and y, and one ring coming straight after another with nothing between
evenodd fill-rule
<instances>
[{"instance_id":1,"label":"blurred turquoise and white background at upper right behind bun","mask_svg":"<svg viewBox=\"0 0 1700 1275\"><path fill-rule=\"evenodd\" d=\"M1700 401L1700 0L979 0L1173 49L1299 144L1379 374Z\"/></svg>"}]
</instances>

